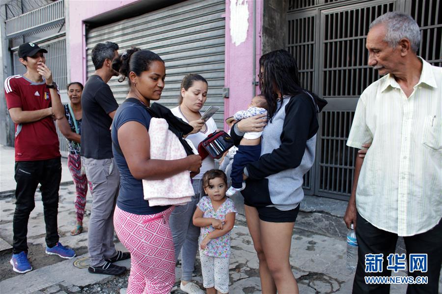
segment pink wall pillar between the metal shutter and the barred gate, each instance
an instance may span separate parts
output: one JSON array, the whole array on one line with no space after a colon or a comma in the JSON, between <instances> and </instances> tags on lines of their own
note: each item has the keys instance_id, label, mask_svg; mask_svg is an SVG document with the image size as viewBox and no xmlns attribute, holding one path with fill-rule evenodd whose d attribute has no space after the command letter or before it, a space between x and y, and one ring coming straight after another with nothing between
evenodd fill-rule
<instances>
[{"instance_id":1,"label":"pink wall pillar between the metal shutter and the barred gate","mask_svg":"<svg viewBox=\"0 0 442 294\"><path fill-rule=\"evenodd\" d=\"M244 4L247 2L249 8L249 27L246 40L236 45L234 44L230 32L231 17L230 2ZM255 58L255 76L258 74L259 57L261 56L261 32L262 32L262 10L263 0L256 1L256 12L253 11L254 0L226 0L225 9L225 78L224 87L229 88L229 98L224 99L224 119L231 117L238 110L247 109L247 105L253 95L253 58ZM256 13L256 25L254 33L256 43L253 44L253 13ZM253 56L253 45L255 45L255 56ZM255 80L258 80L255 77ZM255 87L258 94L259 87ZM226 129L227 125L224 125Z\"/></svg>"}]
</instances>

